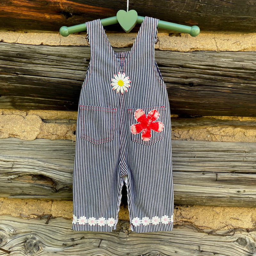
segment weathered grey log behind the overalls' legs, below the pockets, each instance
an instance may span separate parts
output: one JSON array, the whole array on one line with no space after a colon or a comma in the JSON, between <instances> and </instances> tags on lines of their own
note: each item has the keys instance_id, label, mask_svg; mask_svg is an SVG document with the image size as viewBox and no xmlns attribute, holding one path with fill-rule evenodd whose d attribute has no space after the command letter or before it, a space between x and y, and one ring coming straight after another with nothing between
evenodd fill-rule
<instances>
[{"instance_id":1,"label":"weathered grey log behind the overalls' legs, below the pockets","mask_svg":"<svg viewBox=\"0 0 256 256\"><path fill-rule=\"evenodd\" d=\"M1 139L0 194L72 199L75 143ZM256 207L254 143L172 141L175 204Z\"/></svg>"}]
</instances>

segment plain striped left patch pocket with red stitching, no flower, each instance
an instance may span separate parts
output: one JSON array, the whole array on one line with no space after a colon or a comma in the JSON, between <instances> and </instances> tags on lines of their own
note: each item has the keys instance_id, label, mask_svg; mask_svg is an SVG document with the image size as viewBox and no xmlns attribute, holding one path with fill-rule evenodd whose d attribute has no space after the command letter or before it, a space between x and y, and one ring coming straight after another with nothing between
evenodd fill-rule
<instances>
[{"instance_id":1,"label":"plain striped left patch pocket with red stitching, no flower","mask_svg":"<svg viewBox=\"0 0 256 256\"><path fill-rule=\"evenodd\" d=\"M80 105L80 136L93 144L113 140L116 108Z\"/></svg>"}]
</instances>

